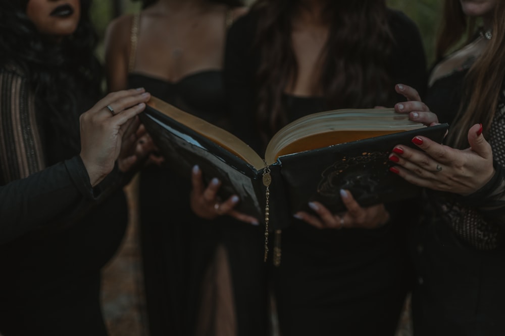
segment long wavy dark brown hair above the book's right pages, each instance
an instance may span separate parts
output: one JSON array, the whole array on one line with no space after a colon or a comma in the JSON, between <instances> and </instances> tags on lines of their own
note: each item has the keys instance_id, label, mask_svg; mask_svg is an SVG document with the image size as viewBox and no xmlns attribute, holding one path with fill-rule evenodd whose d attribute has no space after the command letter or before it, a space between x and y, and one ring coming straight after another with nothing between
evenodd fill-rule
<instances>
[{"instance_id":1,"label":"long wavy dark brown hair above the book's right pages","mask_svg":"<svg viewBox=\"0 0 505 336\"><path fill-rule=\"evenodd\" d=\"M282 95L297 78L291 20L299 6L300 0L258 0L251 7L259 18L257 122L264 141L287 120ZM323 93L328 109L394 103L388 75L394 41L386 11L384 0L326 1L329 35L313 92Z\"/></svg>"}]
</instances>

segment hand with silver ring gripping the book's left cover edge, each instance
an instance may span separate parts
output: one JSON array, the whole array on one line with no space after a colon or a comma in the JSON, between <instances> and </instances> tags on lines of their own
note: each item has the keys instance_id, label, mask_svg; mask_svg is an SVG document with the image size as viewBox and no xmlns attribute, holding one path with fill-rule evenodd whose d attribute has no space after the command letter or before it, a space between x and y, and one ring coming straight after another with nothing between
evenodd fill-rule
<instances>
[{"instance_id":1,"label":"hand with silver ring gripping the book's left cover edge","mask_svg":"<svg viewBox=\"0 0 505 336\"><path fill-rule=\"evenodd\" d=\"M131 152L126 147L136 141L133 141L138 128L136 115L144 110L149 98L150 94L144 89L113 92L80 116L80 156L92 186L112 171L120 153L123 169L131 167L137 160L135 155L128 155ZM114 115L107 105L113 107ZM125 148L123 137L127 143Z\"/></svg>"}]
</instances>

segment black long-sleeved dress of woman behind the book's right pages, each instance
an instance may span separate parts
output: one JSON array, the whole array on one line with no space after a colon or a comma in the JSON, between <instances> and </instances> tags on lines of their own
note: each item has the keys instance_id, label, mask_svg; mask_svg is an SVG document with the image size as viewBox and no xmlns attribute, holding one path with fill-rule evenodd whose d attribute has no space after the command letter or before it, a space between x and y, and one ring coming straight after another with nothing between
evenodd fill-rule
<instances>
[{"instance_id":1,"label":"black long-sleeved dress of woman behind the book's right pages","mask_svg":"<svg viewBox=\"0 0 505 336\"><path fill-rule=\"evenodd\" d=\"M255 124L254 83L260 63L257 49L252 48L257 22L255 13L249 12L230 29L225 88L234 131L259 149L257 131L250 126ZM392 83L411 85L422 94L426 64L419 31L400 12L389 11L388 23L398 43L390 60L395 64ZM330 109L318 97L285 95L283 99L287 121ZM404 230L412 207L408 203L387 207L390 223L375 230L319 230L294 218L282 230L282 259L272 271L282 334L394 334L408 292Z\"/></svg>"}]
</instances>

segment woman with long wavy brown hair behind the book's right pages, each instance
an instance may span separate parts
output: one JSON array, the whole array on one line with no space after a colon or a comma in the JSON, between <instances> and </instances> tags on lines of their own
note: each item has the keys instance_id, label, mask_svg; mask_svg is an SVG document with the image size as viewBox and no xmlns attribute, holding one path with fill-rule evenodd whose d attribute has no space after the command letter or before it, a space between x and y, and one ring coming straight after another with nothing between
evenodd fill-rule
<instances>
[{"instance_id":1,"label":"woman with long wavy brown hair behind the book's right pages","mask_svg":"<svg viewBox=\"0 0 505 336\"><path fill-rule=\"evenodd\" d=\"M259 153L301 116L392 106L399 97L388 88L400 78L422 92L424 51L413 22L383 1L259 0L228 36L232 124ZM211 212L214 196L210 186L194 202ZM347 212L312 203L314 214L295 214L282 239L269 239L281 241L273 290L282 334L394 334L407 293L406 223L397 204L342 198Z\"/></svg>"}]
</instances>

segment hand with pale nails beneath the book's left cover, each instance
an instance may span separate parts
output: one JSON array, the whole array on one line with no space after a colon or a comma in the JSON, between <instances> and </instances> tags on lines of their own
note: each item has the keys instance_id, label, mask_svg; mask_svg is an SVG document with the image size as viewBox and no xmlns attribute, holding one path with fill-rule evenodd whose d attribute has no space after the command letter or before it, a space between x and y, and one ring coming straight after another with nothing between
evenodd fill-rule
<instances>
[{"instance_id":1,"label":"hand with pale nails beneath the book's left cover","mask_svg":"<svg viewBox=\"0 0 505 336\"><path fill-rule=\"evenodd\" d=\"M191 172L191 183L193 188L190 194L191 210L200 218L214 219L218 216L229 215L239 221L252 225L258 225L258 220L254 217L242 214L233 208L238 204L237 195L230 196L227 200L221 201L217 195L221 182L214 178L205 187L202 172L198 166L194 166Z\"/></svg>"}]
</instances>

